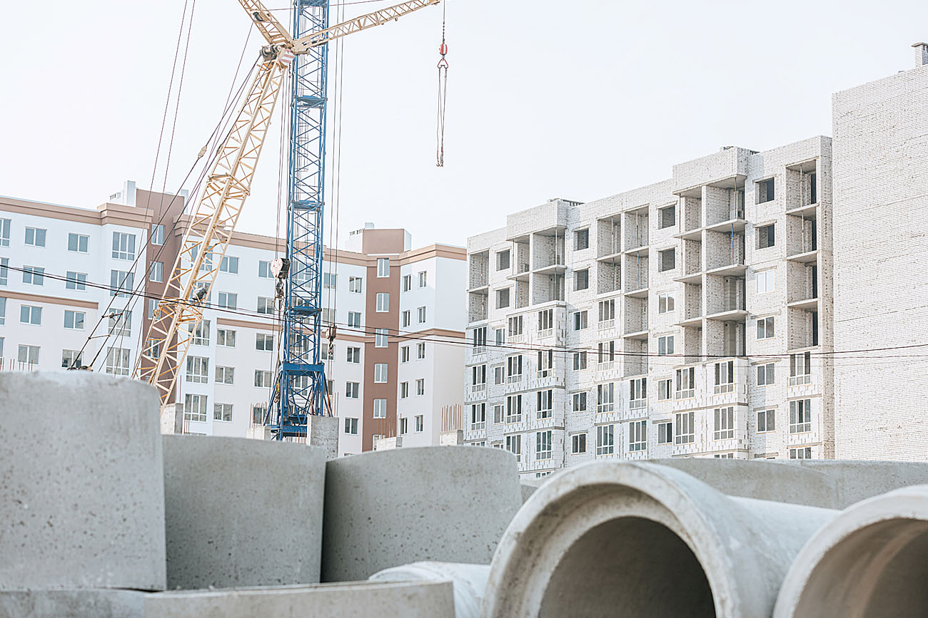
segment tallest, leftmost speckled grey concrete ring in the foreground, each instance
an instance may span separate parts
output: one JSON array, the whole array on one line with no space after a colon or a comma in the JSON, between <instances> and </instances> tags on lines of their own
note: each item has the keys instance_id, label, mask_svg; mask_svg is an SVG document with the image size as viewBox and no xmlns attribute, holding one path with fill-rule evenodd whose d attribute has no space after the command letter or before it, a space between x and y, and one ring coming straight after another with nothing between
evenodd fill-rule
<instances>
[{"instance_id":1,"label":"tallest, leftmost speckled grey concrete ring in the foreground","mask_svg":"<svg viewBox=\"0 0 928 618\"><path fill-rule=\"evenodd\" d=\"M164 588L158 410L134 380L0 373L0 589Z\"/></svg>"}]
</instances>

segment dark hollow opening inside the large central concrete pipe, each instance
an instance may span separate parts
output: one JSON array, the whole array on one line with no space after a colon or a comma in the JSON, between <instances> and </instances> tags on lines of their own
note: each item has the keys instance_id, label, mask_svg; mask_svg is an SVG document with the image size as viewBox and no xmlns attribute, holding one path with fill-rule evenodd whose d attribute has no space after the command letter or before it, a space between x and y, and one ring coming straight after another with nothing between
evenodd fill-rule
<instances>
[{"instance_id":1,"label":"dark hollow opening inside the large central concrete pipe","mask_svg":"<svg viewBox=\"0 0 928 618\"><path fill-rule=\"evenodd\" d=\"M551 574L542 618L715 616L709 580L667 526L640 517L601 523L581 536Z\"/></svg>"}]
</instances>

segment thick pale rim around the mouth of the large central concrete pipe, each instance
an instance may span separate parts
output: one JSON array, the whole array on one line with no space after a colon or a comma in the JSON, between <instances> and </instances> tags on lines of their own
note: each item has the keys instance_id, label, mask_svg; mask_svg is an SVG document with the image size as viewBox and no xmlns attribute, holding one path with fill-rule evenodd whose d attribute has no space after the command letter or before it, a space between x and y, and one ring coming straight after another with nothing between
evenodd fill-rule
<instances>
[{"instance_id":1,"label":"thick pale rim around the mouth of the large central concrete pipe","mask_svg":"<svg viewBox=\"0 0 928 618\"><path fill-rule=\"evenodd\" d=\"M591 501L622 494L640 500L640 504L623 506L629 500L613 499L605 508L586 509ZM565 511L577 500L582 502L579 509ZM658 464L592 461L565 470L539 487L509 523L490 566L482 615L544 615L548 586L571 547L599 526L626 519L658 524L676 536L701 569L714 615L737 615L741 593L724 576L734 566L724 551L722 536L703 516L706 508L727 503L728 497L712 487ZM649 508L654 512L647 513ZM593 515L594 523L586 529L572 521L593 511L598 511ZM531 540L533 536L540 541ZM715 568L707 568L707 564ZM503 586L515 589L506 592Z\"/></svg>"}]
</instances>

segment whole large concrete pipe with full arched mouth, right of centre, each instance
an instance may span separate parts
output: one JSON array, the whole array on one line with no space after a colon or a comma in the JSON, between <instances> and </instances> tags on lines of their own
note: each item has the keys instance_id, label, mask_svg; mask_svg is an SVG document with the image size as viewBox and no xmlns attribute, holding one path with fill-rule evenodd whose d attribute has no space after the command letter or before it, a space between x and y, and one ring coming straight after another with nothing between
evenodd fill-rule
<instances>
[{"instance_id":1,"label":"whole large concrete pipe with full arched mouth, right of centre","mask_svg":"<svg viewBox=\"0 0 928 618\"><path fill-rule=\"evenodd\" d=\"M836 515L594 461L553 477L509 524L483 615L767 616L793 556Z\"/></svg>"}]
</instances>

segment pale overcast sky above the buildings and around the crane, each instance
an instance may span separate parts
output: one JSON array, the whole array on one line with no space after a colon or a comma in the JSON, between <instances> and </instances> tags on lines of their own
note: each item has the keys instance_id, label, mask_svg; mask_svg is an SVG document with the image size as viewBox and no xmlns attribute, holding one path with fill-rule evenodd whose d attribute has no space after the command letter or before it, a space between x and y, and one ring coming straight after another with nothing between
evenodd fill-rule
<instances>
[{"instance_id":1,"label":"pale overcast sky above the buildings and around the crane","mask_svg":"<svg viewBox=\"0 0 928 618\"><path fill-rule=\"evenodd\" d=\"M94 208L124 180L148 188L183 6L6 3L0 195ZM832 92L910 69L909 45L928 39L924 0L447 0L446 10L444 169L441 6L345 39L342 238L373 221L406 227L414 246L464 245L510 212L653 183L721 145L830 134ZM169 189L220 116L249 24L235 0L196 0ZM246 65L258 45L255 32ZM240 230L275 233L278 147L275 132Z\"/></svg>"}]
</instances>

